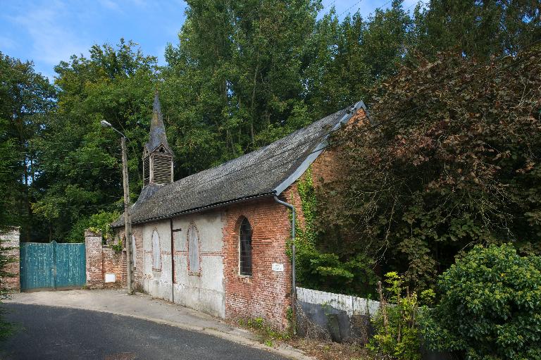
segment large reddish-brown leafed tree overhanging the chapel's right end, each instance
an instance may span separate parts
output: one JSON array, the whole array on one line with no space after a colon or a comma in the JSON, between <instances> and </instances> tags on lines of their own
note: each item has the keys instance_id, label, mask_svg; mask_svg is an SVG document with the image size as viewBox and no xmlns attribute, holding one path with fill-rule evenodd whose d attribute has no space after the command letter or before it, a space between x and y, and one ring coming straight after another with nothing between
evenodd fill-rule
<instances>
[{"instance_id":1,"label":"large reddish-brown leafed tree overhanging the chapel's right end","mask_svg":"<svg viewBox=\"0 0 541 360\"><path fill-rule=\"evenodd\" d=\"M337 135L346 171L321 195L344 256L370 254L426 288L473 244L541 253L540 56L442 54L377 89L373 123Z\"/></svg>"}]
</instances>

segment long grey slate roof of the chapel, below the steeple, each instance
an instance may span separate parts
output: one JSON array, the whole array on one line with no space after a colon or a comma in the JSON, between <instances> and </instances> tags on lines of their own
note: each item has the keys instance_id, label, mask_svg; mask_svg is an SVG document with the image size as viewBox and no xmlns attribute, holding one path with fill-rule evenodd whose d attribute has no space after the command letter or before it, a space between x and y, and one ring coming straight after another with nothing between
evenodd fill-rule
<instances>
[{"instance_id":1,"label":"long grey slate roof of the chapel, below the steeple","mask_svg":"<svg viewBox=\"0 0 541 360\"><path fill-rule=\"evenodd\" d=\"M332 130L366 108L362 101L249 154L168 185L144 187L132 206L132 223L170 218L231 202L280 194L323 151ZM113 227L123 225L123 217Z\"/></svg>"}]
</instances>

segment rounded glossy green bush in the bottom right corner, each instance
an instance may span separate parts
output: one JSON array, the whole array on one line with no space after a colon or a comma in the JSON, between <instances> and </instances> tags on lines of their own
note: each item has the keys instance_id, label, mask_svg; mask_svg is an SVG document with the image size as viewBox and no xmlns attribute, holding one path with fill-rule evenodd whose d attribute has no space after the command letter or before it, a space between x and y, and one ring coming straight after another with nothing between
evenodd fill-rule
<instances>
[{"instance_id":1,"label":"rounded glossy green bush in the bottom right corner","mask_svg":"<svg viewBox=\"0 0 541 360\"><path fill-rule=\"evenodd\" d=\"M471 360L541 359L541 258L511 244L475 246L438 281L440 304L423 324L433 349Z\"/></svg>"}]
</instances>

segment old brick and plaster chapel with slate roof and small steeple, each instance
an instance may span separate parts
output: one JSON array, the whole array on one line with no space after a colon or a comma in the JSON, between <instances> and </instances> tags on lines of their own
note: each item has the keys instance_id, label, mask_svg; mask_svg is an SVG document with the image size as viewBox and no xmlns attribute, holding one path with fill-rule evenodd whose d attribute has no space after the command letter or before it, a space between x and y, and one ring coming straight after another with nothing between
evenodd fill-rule
<instances>
[{"instance_id":1,"label":"old brick and plaster chapel with slate roof and small steeple","mask_svg":"<svg viewBox=\"0 0 541 360\"><path fill-rule=\"evenodd\" d=\"M144 187L131 207L134 283L154 297L220 318L287 326L292 306L292 204L297 180L331 178L331 132L366 114L362 101L237 159L173 181L173 150L154 98ZM123 218L113 223L123 236Z\"/></svg>"}]
</instances>

